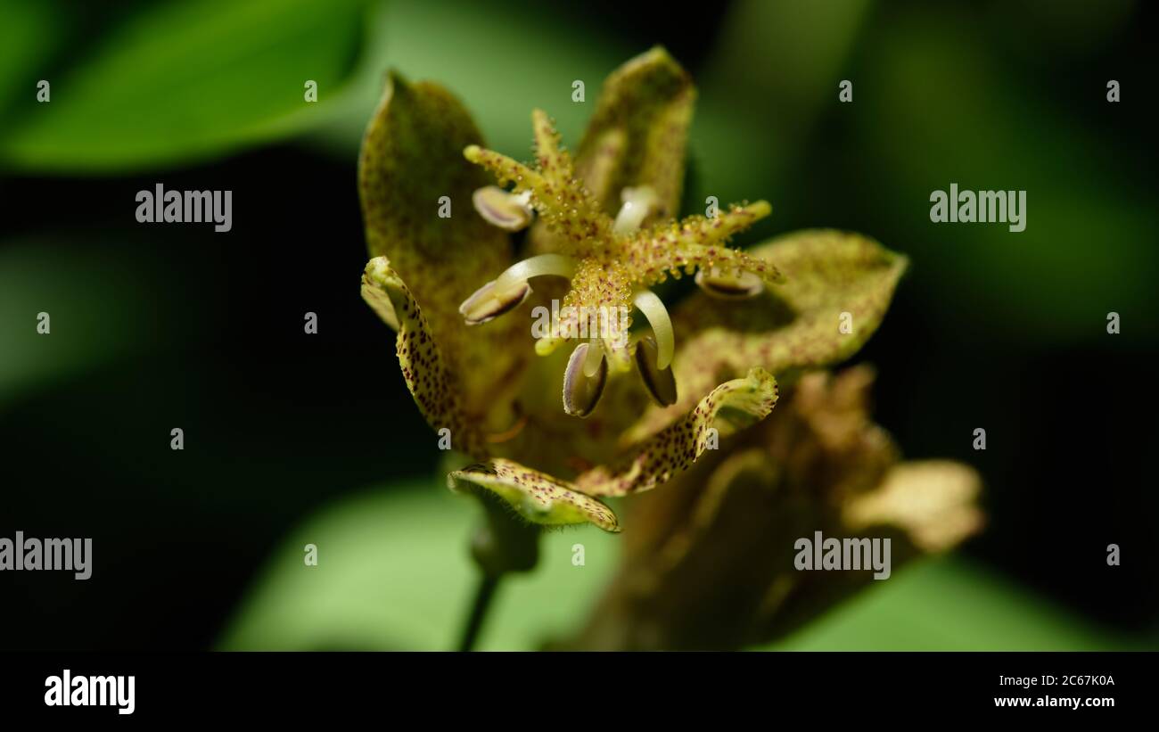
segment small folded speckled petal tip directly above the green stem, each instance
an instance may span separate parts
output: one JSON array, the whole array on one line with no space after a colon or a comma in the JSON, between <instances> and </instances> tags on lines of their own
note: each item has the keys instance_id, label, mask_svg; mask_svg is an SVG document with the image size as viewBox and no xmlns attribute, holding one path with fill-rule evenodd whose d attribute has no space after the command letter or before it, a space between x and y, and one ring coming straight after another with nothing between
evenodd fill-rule
<instances>
[{"instance_id":1,"label":"small folded speckled petal tip directly above the green stem","mask_svg":"<svg viewBox=\"0 0 1159 732\"><path fill-rule=\"evenodd\" d=\"M599 499L511 460L497 458L455 470L447 476L447 486L457 492L489 491L533 524L595 524L605 532L620 530L615 514Z\"/></svg>"}]
</instances>

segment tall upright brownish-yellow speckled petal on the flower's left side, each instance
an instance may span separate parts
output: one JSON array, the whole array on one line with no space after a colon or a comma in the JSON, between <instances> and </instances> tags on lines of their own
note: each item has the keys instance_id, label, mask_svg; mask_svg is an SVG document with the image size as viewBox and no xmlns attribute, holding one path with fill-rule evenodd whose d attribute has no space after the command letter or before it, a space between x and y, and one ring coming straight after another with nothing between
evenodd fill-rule
<instances>
[{"instance_id":1,"label":"tall upright brownish-yellow speckled petal on the flower's left side","mask_svg":"<svg viewBox=\"0 0 1159 732\"><path fill-rule=\"evenodd\" d=\"M525 347L512 347L526 338L524 323L468 329L459 314L459 305L511 262L510 237L472 202L490 180L462 159L462 148L481 140L446 89L392 73L358 162L370 254L389 257L406 280L443 350L449 385L473 415L501 402L504 387L513 390L529 360Z\"/></svg>"}]
</instances>

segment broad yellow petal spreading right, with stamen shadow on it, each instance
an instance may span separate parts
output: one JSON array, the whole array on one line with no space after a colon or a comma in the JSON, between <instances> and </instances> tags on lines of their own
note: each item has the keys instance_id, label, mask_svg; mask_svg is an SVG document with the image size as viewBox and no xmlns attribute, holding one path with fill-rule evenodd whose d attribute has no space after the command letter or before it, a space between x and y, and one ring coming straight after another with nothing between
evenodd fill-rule
<instances>
[{"instance_id":1,"label":"broad yellow petal spreading right, with stamen shadow on it","mask_svg":"<svg viewBox=\"0 0 1159 732\"><path fill-rule=\"evenodd\" d=\"M692 405L690 395L750 367L783 376L848 358L881 324L906 266L872 239L830 229L787 234L749 255L775 263L783 284L746 300L698 292L681 302L673 313L681 398L649 410L626 440L656 433Z\"/></svg>"}]
</instances>

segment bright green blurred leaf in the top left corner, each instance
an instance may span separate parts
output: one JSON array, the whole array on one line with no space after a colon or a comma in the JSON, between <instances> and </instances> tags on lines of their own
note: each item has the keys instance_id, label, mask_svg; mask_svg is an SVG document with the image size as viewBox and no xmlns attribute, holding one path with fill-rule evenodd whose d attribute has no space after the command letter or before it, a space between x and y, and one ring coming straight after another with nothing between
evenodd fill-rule
<instances>
[{"instance_id":1,"label":"bright green blurred leaf in the top left corner","mask_svg":"<svg viewBox=\"0 0 1159 732\"><path fill-rule=\"evenodd\" d=\"M365 0L148 6L9 105L5 167L102 173L197 160L327 119L362 51ZM10 52L9 52L10 53ZM19 53L17 58L28 57ZM318 82L318 103L304 100ZM0 88L2 90L2 88Z\"/></svg>"}]
</instances>

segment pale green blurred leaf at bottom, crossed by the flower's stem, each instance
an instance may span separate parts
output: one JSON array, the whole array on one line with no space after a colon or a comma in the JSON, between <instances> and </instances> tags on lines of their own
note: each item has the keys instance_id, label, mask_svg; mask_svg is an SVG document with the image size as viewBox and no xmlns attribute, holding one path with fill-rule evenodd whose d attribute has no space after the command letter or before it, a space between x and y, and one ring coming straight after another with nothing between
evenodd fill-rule
<instances>
[{"instance_id":1,"label":"pale green blurred leaf at bottom, crossed by the flower's stem","mask_svg":"<svg viewBox=\"0 0 1159 732\"><path fill-rule=\"evenodd\" d=\"M351 496L305 521L272 552L218 646L224 650L451 650L478 568L474 499L431 482ZM573 544L584 546L583 565ZM304 547L318 547L306 566ZM583 621L619 558L596 530L542 536L534 572L503 579L481 650L534 650Z\"/></svg>"}]
</instances>

